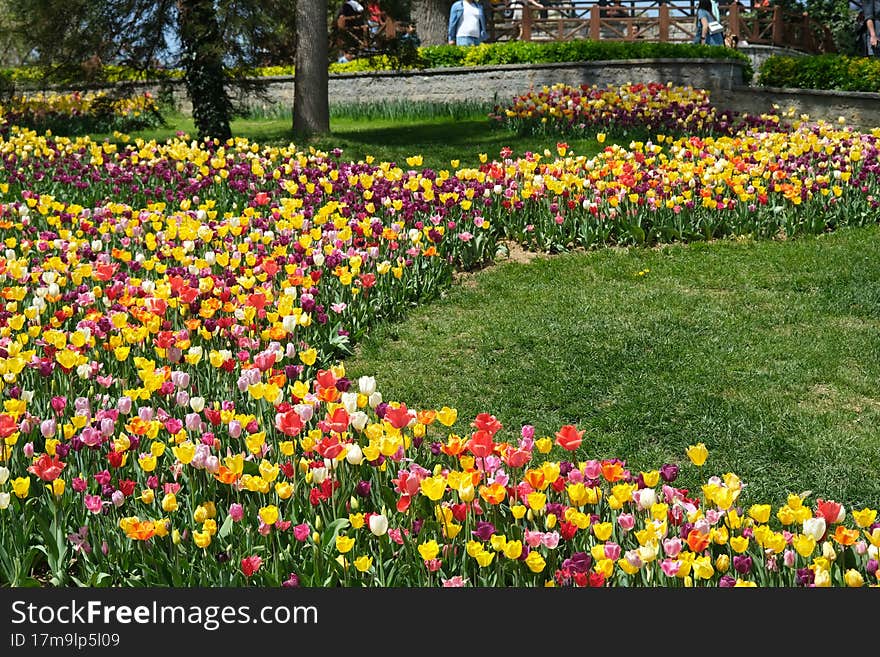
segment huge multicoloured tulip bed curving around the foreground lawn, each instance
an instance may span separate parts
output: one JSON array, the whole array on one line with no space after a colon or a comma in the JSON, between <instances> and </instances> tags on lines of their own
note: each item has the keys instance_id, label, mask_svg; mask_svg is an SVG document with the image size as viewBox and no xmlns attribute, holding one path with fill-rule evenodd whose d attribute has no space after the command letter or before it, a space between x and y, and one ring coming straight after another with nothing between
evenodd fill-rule
<instances>
[{"instance_id":1,"label":"huge multicoloured tulip bed curving around the foreground lawn","mask_svg":"<svg viewBox=\"0 0 880 657\"><path fill-rule=\"evenodd\" d=\"M455 172L13 128L0 140L0 582L861 586L876 509L776 507L583 431L384 399L341 358L510 238L609 243L876 221L876 135L657 136Z\"/></svg>"}]
</instances>

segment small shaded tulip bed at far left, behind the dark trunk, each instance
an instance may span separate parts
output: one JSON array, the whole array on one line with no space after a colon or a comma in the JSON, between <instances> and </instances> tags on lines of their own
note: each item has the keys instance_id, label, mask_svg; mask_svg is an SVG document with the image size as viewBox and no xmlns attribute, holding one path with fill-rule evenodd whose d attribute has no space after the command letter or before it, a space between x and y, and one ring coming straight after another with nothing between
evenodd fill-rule
<instances>
[{"instance_id":1,"label":"small shaded tulip bed at far left, behind the dark trunk","mask_svg":"<svg viewBox=\"0 0 880 657\"><path fill-rule=\"evenodd\" d=\"M113 97L106 92L35 93L0 103L0 135L11 126L66 135L130 132L162 125L152 94Z\"/></svg>"}]
</instances>

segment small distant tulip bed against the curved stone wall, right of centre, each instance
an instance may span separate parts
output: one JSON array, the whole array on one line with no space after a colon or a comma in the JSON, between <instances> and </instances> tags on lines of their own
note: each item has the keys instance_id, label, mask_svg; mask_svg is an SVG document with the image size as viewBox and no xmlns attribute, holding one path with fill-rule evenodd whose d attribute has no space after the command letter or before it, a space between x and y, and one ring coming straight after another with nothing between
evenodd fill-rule
<instances>
[{"instance_id":1,"label":"small distant tulip bed against the curved stone wall, right of centre","mask_svg":"<svg viewBox=\"0 0 880 657\"><path fill-rule=\"evenodd\" d=\"M496 106L494 121L519 134L734 135L746 129L787 131L777 114L719 110L703 89L649 82L622 86L556 84Z\"/></svg>"}]
</instances>

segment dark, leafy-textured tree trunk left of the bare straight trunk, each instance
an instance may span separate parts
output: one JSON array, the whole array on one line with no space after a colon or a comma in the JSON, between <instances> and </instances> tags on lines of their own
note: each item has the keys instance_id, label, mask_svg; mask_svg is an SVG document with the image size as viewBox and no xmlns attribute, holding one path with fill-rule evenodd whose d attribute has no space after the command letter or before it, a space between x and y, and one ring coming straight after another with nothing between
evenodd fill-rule
<instances>
[{"instance_id":1,"label":"dark, leafy-textured tree trunk left of the bare straight trunk","mask_svg":"<svg viewBox=\"0 0 880 657\"><path fill-rule=\"evenodd\" d=\"M232 138L232 101L226 93L225 44L214 2L180 0L178 9L184 81L199 139L225 142Z\"/></svg>"}]
</instances>

